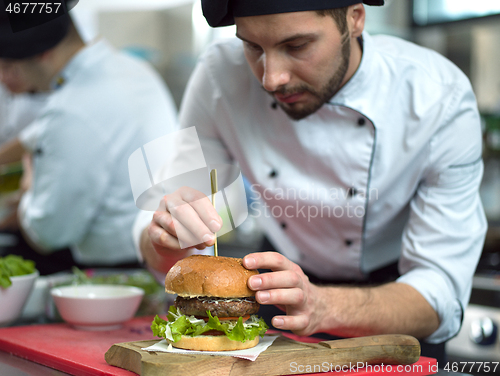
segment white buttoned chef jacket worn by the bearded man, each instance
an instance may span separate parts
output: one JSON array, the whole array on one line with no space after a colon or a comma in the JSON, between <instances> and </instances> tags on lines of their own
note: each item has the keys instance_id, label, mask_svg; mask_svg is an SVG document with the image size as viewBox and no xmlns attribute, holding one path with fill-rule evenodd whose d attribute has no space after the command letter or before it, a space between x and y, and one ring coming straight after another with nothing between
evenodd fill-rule
<instances>
[{"instance_id":1,"label":"white buttoned chef jacket worn by the bearded man","mask_svg":"<svg viewBox=\"0 0 500 376\"><path fill-rule=\"evenodd\" d=\"M363 279L399 259L398 282L439 315L426 339L439 343L460 328L486 230L476 100L437 53L363 41L354 76L300 121L273 106L241 41L216 43L188 84L181 127L196 126L207 163L239 163L267 206L253 215L304 269Z\"/></svg>"}]
</instances>

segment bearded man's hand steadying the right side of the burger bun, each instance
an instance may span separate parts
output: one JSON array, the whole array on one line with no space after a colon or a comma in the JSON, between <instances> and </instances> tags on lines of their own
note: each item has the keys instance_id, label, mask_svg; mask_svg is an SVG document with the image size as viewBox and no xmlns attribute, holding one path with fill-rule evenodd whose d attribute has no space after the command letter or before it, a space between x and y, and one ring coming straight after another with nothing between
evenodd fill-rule
<instances>
[{"instance_id":1,"label":"bearded man's hand steadying the right side of the burger bun","mask_svg":"<svg viewBox=\"0 0 500 376\"><path fill-rule=\"evenodd\" d=\"M286 312L286 316L273 318L274 327L305 336L317 331L322 319L322 291L309 282L300 266L276 252L249 254L243 265L247 269L272 270L250 277L248 286L256 291L257 302L274 304Z\"/></svg>"}]
</instances>

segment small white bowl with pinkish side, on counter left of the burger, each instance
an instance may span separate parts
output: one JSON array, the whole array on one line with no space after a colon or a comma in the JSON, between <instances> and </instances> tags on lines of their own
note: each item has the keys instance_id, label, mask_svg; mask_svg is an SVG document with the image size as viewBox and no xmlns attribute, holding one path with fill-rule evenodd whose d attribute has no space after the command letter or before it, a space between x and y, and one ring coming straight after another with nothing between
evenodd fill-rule
<instances>
[{"instance_id":1,"label":"small white bowl with pinkish side, on counter left of the burger","mask_svg":"<svg viewBox=\"0 0 500 376\"><path fill-rule=\"evenodd\" d=\"M132 286L80 285L50 290L64 321L78 329L118 329L139 308L144 290Z\"/></svg>"}]
</instances>

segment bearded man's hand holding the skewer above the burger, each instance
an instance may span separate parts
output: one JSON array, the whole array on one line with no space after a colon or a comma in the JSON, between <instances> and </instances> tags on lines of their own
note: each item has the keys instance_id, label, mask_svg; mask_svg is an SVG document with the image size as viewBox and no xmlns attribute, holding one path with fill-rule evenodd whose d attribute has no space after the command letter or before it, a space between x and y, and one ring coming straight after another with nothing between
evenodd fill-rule
<instances>
[{"instance_id":1,"label":"bearded man's hand holding the skewer above the burger","mask_svg":"<svg viewBox=\"0 0 500 376\"><path fill-rule=\"evenodd\" d=\"M151 244L159 254L212 246L222 219L210 199L200 191L182 187L162 198L148 228Z\"/></svg>"}]
</instances>

